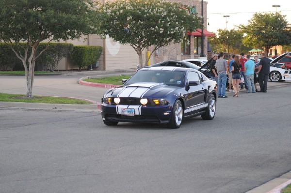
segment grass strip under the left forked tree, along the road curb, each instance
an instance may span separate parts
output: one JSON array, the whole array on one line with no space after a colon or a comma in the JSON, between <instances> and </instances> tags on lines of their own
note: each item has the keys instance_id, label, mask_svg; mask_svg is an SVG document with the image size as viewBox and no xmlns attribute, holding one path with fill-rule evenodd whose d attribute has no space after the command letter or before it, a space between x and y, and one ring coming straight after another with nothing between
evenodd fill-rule
<instances>
[{"instance_id":1,"label":"grass strip under the left forked tree, along the road curb","mask_svg":"<svg viewBox=\"0 0 291 193\"><path fill-rule=\"evenodd\" d=\"M65 97L33 96L27 98L24 94L0 93L1 102L49 103L49 104L93 104L90 101Z\"/></svg>"}]
</instances>

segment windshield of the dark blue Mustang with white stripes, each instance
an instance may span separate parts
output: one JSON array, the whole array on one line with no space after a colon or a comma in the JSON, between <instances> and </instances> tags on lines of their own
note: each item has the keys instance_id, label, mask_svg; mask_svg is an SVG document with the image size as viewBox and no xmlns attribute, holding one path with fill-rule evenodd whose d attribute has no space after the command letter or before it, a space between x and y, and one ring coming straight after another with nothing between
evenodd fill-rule
<instances>
[{"instance_id":1,"label":"windshield of the dark blue Mustang with white stripes","mask_svg":"<svg viewBox=\"0 0 291 193\"><path fill-rule=\"evenodd\" d=\"M184 77L185 73L181 71L141 70L133 74L124 85L128 86L134 83L157 82L183 87Z\"/></svg>"}]
</instances>

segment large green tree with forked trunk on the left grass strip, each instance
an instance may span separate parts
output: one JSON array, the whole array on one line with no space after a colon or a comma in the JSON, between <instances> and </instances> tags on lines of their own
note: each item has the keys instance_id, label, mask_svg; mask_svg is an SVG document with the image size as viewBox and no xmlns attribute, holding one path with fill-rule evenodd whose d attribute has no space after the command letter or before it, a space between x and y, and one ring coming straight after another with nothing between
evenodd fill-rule
<instances>
[{"instance_id":1,"label":"large green tree with forked trunk on the left grass strip","mask_svg":"<svg viewBox=\"0 0 291 193\"><path fill-rule=\"evenodd\" d=\"M0 0L0 41L21 59L27 97L32 96L35 59L40 42L75 39L97 30L91 0ZM25 42L26 44L20 44ZM15 43L15 49L12 44Z\"/></svg>"}]
</instances>

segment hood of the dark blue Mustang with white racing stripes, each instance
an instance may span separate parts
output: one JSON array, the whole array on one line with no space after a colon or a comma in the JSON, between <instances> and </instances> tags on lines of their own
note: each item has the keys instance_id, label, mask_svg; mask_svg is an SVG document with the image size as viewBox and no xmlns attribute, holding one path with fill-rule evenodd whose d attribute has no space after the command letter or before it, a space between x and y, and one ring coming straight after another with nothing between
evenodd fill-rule
<instances>
[{"instance_id":1,"label":"hood of the dark blue Mustang with white racing stripes","mask_svg":"<svg viewBox=\"0 0 291 193\"><path fill-rule=\"evenodd\" d=\"M110 97L130 98L165 98L178 87L168 86L163 83L135 83L110 89L105 95Z\"/></svg>"}]
</instances>

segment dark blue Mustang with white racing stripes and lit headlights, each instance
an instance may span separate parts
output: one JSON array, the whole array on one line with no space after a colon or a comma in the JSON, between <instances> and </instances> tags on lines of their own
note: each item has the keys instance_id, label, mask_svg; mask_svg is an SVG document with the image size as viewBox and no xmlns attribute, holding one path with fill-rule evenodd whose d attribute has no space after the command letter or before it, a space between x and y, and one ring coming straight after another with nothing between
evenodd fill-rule
<instances>
[{"instance_id":1,"label":"dark blue Mustang with white racing stripes and lit headlights","mask_svg":"<svg viewBox=\"0 0 291 193\"><path fill-rule=\"evenodd\" d=\"M185 117L213 119L216 96L216 82L195 69L143 68L104 94L101 115L106 125L151 122L179 128Z\"/></svg>"}]
</instances>

